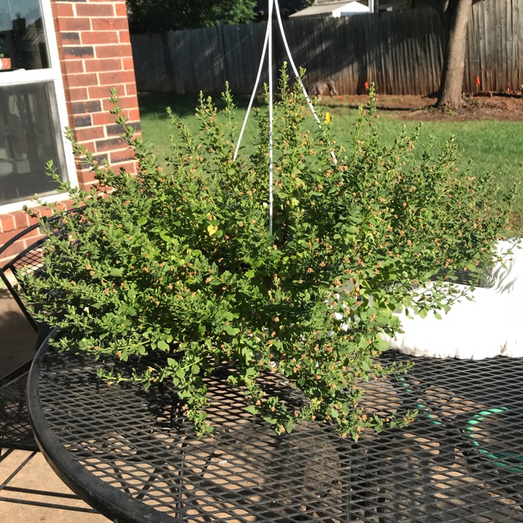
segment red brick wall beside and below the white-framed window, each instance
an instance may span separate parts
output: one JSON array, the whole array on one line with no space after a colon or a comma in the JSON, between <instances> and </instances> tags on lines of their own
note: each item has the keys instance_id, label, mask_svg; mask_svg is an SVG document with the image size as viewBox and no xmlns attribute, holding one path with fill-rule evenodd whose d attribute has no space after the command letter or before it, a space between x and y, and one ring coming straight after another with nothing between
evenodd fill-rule
<instances>
[{"instance_id":1,"label":"red brick wall beside and below the white-framed window","mask_svg":"<svg viewBox=\"0 0 523 523\"><path fill-rule=\"evenodd\" d=\"M69 125L98 160L107 158L117 168L132 171L135 163L118 137L121 129L114 124L107 101L109 90L118 89L123 114L139 129L126 1L44 1L51 2L54 15ZM77 176L80 185L93 183L89 169L77 167ZM0 245L30 222L21 210L0 215ZM22 250L29 241L13 245L11 252Z\"/></svg>"}]
</instances>

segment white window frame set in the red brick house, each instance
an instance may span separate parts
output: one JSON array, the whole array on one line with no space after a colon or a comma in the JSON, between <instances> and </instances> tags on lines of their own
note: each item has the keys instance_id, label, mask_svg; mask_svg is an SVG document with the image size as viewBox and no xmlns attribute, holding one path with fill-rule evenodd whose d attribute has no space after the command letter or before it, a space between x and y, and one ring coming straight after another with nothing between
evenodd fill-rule
<instances>
[{"instance_id":1,"label":"white window frame set in the red brick house","mask_svg":"<svg viewBox=\"0 0 523 523\"><path fill-rule=\"evenodd\" d=\"M60 59L58 54L58 44L56 43L56 33L54 32L53 13L50 0L39 0L40 9L42 13L43 29L45 33L45 41L47 44L47 54L49 56L50 67L46 69L31 69L31 70L13 70L4 71L0 75L0 86L9 86L16 84L34 84L38 82L52 82L54 85L54 93L56 95L56 106L58 107L58 123L61 129L61 142L56 146L63 147L63 158L66 165L60 166L66 169L68 181L71 185L77 185L77 172L75 165L75 157L70 141L64 136L66 126L69 125L69 119L66 106L66 95L63 91L63 81L60 68ZM47 195L42 197L44 202L59 202L63 199L68 199L66 192L56 192L54 195ZM0 204L0 214L6 214L13 211L20 211L22 207L36 206L33 199L22 200L20 202L11 202L9 204Z\"/></svg>"}]
</instances>

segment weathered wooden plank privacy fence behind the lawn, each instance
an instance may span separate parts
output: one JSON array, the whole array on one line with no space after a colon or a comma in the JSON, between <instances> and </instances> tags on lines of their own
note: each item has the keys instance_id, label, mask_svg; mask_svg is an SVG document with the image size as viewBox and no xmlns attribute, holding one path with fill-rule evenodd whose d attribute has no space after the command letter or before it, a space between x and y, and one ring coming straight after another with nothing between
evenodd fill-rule
<instances>
[{"instance_id":1,"label":"weathered wooden plank privacy fence behind the lawn","mask_svg":"<svg viewBox=\"0 0 523 523\"><path fill-rule=\"evenodd\" d=\"M365 82L371 81L381 93L427 95L439 88L444 34L433 9L284 24L294 61L307 69L309 83L332 77L346 94L365 92ZM229 80L234 93L250 93L265 29L265 24L245 24L134 35L138 89L219 92ZM275 68L286 59L277 40ZM523 0L476 3L469 20L463 90L520 89L522 61Z\"/></svg>"}]
</instances>

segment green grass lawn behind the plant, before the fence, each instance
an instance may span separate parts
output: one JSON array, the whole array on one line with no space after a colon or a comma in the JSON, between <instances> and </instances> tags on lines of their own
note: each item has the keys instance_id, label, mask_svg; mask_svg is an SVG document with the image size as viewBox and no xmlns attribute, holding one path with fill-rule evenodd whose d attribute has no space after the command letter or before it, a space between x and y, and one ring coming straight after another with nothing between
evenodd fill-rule
<instances>
[{"instance_id":1,"label":"green grass lawn behind the plant, before the fence","mask_svg":"<svg viewBox=\"0 0 523 523\"><path fill-rule=\"evenodd\" d=\"M238 119L243 120L248 98L236 99L236 103ZM196 131L196 104L195 95L148 93L139 96L144 140L153 144L153 149L159 156L168 153L167 136L172 132L165 107L171 107L173 112ZM348 144L353 123L356 121L356 109L335 105L328 107L328 111L332 114L331 127L336 141L338 144ZM393 142L403 125L411 130L416 126L416 122L395 119L385 111L380 113L379 129L384 145ZM248 135L254 131L254 126L254 121L250 119L242 145L248 144ZM464 166L472 160L473 173L492 172L499 185L500 195L510 192L513 183L523 179L523 121L429 121L423 123L419 142L421 146L427 143L429 135L434 135L439 146L444 144L450 135L456 135L460 147L460 164ZM275 136L275 139L278 137ZM523 189L520 190L515 203L510 231L512 234L523 234Z\"/></svg>"}]
</instances>

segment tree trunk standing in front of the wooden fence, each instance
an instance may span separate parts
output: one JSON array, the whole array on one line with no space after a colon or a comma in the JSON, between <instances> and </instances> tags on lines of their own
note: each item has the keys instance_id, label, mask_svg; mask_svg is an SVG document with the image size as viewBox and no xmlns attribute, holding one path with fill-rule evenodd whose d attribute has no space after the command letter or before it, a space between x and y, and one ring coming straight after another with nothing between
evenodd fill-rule
<instances>
[{"instance_id":1,"label":"tree trunk standing in front of the wooden fence","mask_svg":"<svg viewBox=\"0 0 523 523\"><path fill-rule=\"evenodd\" d=\"M473 0L451 0L445 13L446 50L437 102L437 107L441 109L453 109L462 103L467 24L472 2Z\"/></svg>"}]
</instances>

